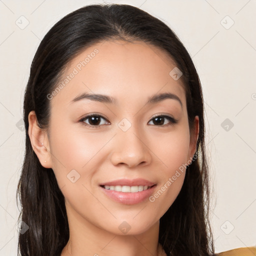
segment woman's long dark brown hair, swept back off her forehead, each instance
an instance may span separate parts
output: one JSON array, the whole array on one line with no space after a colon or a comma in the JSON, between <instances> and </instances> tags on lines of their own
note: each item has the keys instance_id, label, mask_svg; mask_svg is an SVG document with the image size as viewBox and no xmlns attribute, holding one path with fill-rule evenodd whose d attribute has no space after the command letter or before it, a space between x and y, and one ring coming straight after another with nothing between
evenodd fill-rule
<instances>
[{"instance_id":1,"label":"woman's long dark brown hair, swept back off her forehead","mask_svg":"<svg viewBox=\"0 0 256 256\"><path fill-rule=\"evenodd\" d=\"M211 255L208 166L204 148L204 108L200 81L193 62L174 32L147 12L127 4L93 4L60 19L44 36L30 68L24 95L25 157L16 196L19 220L28 230L19 233L22 256L60 255L69 238L64 197L52 169L44 168L28 136L28 114L35 111L38 125L47 128L47 94L54 90L68 62L81 50L108 39L140 40L156 46L182 71L189 128L199 117L196 159L186 167L181 191L160 218L159 243L167 255Z\"/></svg>"}]
</instances>

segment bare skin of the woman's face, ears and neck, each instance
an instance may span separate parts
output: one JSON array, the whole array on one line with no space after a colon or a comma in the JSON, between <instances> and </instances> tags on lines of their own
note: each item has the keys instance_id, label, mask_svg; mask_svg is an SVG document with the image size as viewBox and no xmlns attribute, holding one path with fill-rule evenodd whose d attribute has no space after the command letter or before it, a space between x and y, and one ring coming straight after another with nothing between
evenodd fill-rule
<instances>
[{"instance_id":1,"label":"bare skin of the woman's face, ears and neck","mask_svg":"<svg viewBox=\"0 0 256 256\"><path fill-rule=\"evenodd\" d=\"M78 70L77 64L95 48L98 53ZM70 236L61 256L166 255L158 244L159 219L178 195L185 171L154 201L131 205L107 197L99 184L144 178L156 184L155 194L193 157L198 116L189 131L182 81L169 75L174 67L165 52L144 42L97 43L67 66L65 75L74 68L78 73L50 99L48 129L39 129L34 111L29 113L33 150L44 167L52 168L65 197ZM109 95L116 104L72 102L82 92ZM146 104L148 97L163 92L180 102L165 98ZM89 113L102 116L97 127L88 126L91 118L78 122ZM153 117L162 115L177 122L162 117L158 124ZM130 124L126 131L118 126L123 118ZM80 175L75 182L67 178L72 169ZM130 226L127 233L118 228L123 221Z\"/></svg>"}]
</instances>

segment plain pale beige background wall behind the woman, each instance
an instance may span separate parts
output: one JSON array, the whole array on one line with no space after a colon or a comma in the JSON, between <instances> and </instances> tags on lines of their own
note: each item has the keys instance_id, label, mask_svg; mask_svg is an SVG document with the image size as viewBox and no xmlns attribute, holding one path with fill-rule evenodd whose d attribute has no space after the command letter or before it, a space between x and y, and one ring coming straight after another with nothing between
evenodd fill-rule
<instances>
[{"instance_id":1,"label":"plain pale beige background wall behind the woman","mask_svg":"<svg viewBox=\"0 0 256 256\"><path fill-rule=\"evenodd\" d=\"M140 6L160 18L192 56L206 107L216 252L256 245L256 1L110 2ZM24 154L20 119L32 57L57 20L90 3L103 1L0 0L0 255L17 250L15 191Z\"/></svg>"}]
</instances>

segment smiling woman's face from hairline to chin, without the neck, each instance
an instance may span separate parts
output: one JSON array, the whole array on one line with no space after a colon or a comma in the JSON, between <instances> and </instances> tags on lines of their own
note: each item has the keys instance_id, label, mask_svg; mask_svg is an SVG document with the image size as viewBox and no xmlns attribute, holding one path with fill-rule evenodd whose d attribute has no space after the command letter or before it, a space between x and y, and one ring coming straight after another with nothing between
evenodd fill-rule
<instances>
[{"instance_id":1,"label":"smiling woman's face from hairline to chin, without the neck","mask_svg":"<svg viewBox=\"0 0 256 256\"><path fill-rule=\"evenodd\" d=\"M124 41L94 44L69 63L58 89L48 94L47 163L69 218L115 234L138 234L173 203L197 136L189 134L185 91L174 67L158 48ZM161 93L170 96L156 97ZM137 191L146 182L153 186Z\"/></svg>"}]
</instances>

